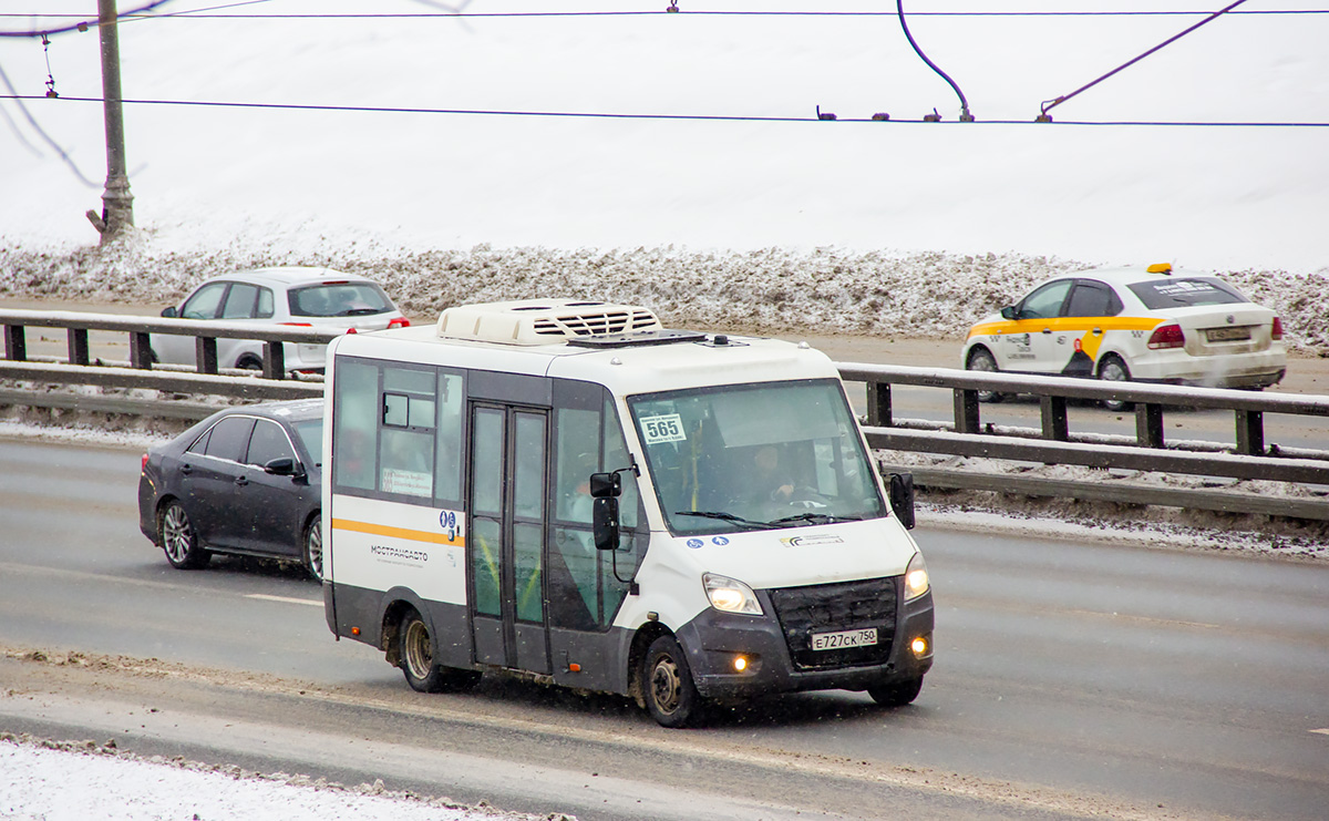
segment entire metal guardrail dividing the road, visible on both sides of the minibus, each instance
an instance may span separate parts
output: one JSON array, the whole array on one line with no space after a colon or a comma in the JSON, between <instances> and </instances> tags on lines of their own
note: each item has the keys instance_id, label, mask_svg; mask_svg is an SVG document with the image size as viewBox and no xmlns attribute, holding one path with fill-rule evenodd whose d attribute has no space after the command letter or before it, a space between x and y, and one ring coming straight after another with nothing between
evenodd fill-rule
<instances>
[{"instance_id":1,"label":"entire metal guardrail dividing the road, visible on both sides of the minibus","mask_svg":"<svg viewBox=\"0 0 1329 821\"><path fill-rule=\"evenodd\" d=\"M282 343L326 344L335 332L284 325L246 323L199 323L187 319L0 310L5 360L0 379L28 383L150 388L185 395L231 396L275 400L322 396L323 385L287 380ZM66 361L28 361L27 328L64 328ZM124 332L130 337L129 367L108 367L89 356L88 332ZM194 336L195 371L153 368L149 335ZM218 373L217 339L256 339L264 343L263 379ZM1286 452L1265 445L1264 414L1282 413L1329 417L1329 396L1288 396L1216 388L1100 383L1067 377L1026 377L949 368L913 368L839 363L847 383L864 383L868 396L865 434L877 449L933 454L1131 469L1225 480L1269 480L1300 485L1329 485L1329 450ZM954 417L948 429L918 429L896 424L892 387L914 385L950 391ZM1039 401L1041 429L998 432L982 422L979 392L1033 395ZM21 399L21 401L20 401ZM1135 437L1123 441L1090 441L1070 430L1067 404L1073 400L1118 400L1135 404ZM23 391L0 392L0 404L104 409L138 407L142 413L159 410L159 400L70 400L69 395ZM94 407L96 405L96 407ZM1164 414L1175 408L1221 409L1233 413L1233 445L1212 449L1170 448L1164 441ZM205 407L181 407L178 416L201 414ZM1102 437L1098 437L1102 440ZM1326 436L1329 441L1329 436ZM1268 513L1296 518L1329 519L1329 492L1312 498L1271 498L1236 490L1130 488L1127 482L1050 480L981 473L945 468L901 468L914 473L922 486L981 489L1027 496L1061 496L1140 505L1170 505L1209 510Z\"/></svg>"}]
</instances>

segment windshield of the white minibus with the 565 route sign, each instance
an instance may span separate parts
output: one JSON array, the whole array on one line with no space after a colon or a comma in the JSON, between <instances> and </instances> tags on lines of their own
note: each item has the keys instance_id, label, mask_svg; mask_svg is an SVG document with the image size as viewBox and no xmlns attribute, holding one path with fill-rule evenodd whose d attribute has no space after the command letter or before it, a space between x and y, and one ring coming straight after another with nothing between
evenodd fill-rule
<instances>
[{"instance_id":1,"label":"windshield of the white minibus with the 565 route sign","mask_svg":"<svg viewBox=\"0 0 1329 821\"><path fill-rule=\"evenodd\" d=\"M675 534L886 514L837 380L649 393L629 407Z\"/></svg>"}]
</instances>

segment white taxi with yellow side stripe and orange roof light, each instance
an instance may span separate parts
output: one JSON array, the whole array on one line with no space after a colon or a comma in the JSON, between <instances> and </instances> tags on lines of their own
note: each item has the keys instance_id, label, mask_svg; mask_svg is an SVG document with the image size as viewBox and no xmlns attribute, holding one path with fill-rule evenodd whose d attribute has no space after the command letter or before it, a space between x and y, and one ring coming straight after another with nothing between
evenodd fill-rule
<instances>
[{"instance_id":1,"label":"white taxi with yellow side stripe and orange roof light","mask_svg":"<svg viewBox=\"0 0 1329 821\"><path fill-rule=\"evenodd\" d=\"M970 371L1260 389L1282 379L1288 353L1272 310L1217 276L1160 263L1041 283L969 328L962 363Z\"/></svg>"}]
</instances>

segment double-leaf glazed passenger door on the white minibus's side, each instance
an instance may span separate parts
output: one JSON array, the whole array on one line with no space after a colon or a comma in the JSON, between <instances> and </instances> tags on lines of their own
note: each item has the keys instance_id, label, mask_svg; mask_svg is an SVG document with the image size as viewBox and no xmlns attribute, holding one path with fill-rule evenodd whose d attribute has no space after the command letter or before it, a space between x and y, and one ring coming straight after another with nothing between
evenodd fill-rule
<instances>
[{"instance_id":1,"label":"double-leaf glazed passenger door on the white minibus's side","mask_svg":"<svg viewBox=\"0 0 1329 821\"><path fill-rule=\"evenodd\" d=\"M541 409L472 405L469 593L476 662L549 674Z\"/></svg>"}]
</instances>

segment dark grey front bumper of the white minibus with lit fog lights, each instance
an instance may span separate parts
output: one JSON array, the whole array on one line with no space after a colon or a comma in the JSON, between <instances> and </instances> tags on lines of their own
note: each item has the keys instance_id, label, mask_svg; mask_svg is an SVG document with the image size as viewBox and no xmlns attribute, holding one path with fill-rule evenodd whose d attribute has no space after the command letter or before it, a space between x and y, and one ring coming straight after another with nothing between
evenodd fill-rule
<instances>
[{"instance_id":1,"label":"dark grey front bumper of the white minibus with lit fog lights","mask_svg":"<svg viewBox=\"0 0 1329 821\"><path fill-rule=\"evenodd\" d=\"M889 652L885 660L836 667L807 667L795 663L780 619L772 615L769 596L760 591L767 615L751 616L720 612L714 608L678 631L696 689L708 699L739 700L776 692L808 689L867 689L922 678L933 659L932 593L901 603L896 611ZM870 624L843 624L859 628ZM882 635L885 624L877 624ZM916 655L912 643L926 640L926 652ZM735 671L742 656L747 668Z\"/></svg>"}]
</instances>

